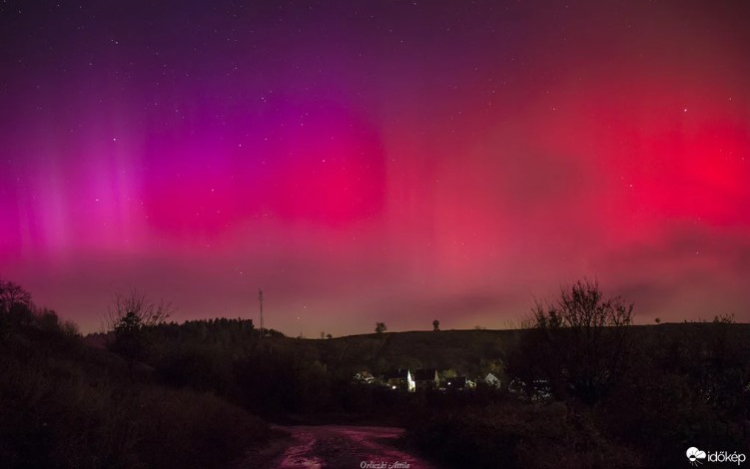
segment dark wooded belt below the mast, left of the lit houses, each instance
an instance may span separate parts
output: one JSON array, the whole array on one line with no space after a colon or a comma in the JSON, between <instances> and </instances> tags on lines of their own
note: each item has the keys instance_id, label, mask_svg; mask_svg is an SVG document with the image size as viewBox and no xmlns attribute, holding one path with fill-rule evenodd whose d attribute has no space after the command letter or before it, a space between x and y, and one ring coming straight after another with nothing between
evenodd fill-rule
<instances>
[{"instance_id":1,"label":"dark wooded belt below the mast, left of the lit houses","mask_svg":"<svg viewBox=\"0 0 750 469\"><path fill-rule=\"evenodd\" d=\"M353 383L322 341L261 334L249 320L164 324L149 334L143 362L162 383L210 390L273 421L392 422L395 407L407 407L388 389Z\"/></svg>"}]
</instances>

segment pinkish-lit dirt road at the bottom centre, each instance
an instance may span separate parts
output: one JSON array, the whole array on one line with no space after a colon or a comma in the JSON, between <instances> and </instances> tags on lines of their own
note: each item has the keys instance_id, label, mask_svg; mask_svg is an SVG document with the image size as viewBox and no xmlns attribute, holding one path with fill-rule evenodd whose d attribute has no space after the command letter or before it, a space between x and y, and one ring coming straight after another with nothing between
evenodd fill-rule
<instances>
[{"instance_id":1,"label":"pinkish-lit dirt road at the bottom centre","mask_svg":"<svg viewBox=\"0 0 750 469\"><path fill-rule=\"evenodd\" d=\"M359 426L276 427L290 437L254 466L269 469L435 469L394 443L403 430ZM249 467L249 466L247 466Z\"/></svg>"}]
</instances>

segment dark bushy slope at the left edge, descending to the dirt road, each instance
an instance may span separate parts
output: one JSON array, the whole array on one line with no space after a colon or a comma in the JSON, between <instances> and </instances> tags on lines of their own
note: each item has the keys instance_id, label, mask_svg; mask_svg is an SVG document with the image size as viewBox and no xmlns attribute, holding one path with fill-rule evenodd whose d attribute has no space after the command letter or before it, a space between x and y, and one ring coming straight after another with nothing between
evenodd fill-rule
<instances>
[{"instance_id":1,"label":"dark bushy slope at the left edge, descending to the dirt road","mask_svg":"<svg viewBox=\"0 0 750 469\"><path fill-rule=\"evenodd\" d=\"M216 393L87 346L72 323L0 279L0 466L227 467L267 424Z\"/></svg>"}]
</instances>

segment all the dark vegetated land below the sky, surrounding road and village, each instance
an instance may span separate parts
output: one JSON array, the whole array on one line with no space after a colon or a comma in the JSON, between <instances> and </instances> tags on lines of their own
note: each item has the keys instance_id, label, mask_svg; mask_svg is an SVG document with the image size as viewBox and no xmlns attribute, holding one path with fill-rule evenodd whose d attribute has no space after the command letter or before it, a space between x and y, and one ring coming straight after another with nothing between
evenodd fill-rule
<instances>
[{"instance_id":1,"label":"all the dark vegetated land below the sky, surrounding road and village","mask_svg":"<svg viewBox=\"0 0 750 469\"><path fill-rule=\"evenodd\" d=\"M293 339L249 320L167 323L168 306L135 293L110 313L108 333L82 338L0 281L0 466L232 467L269 438L263 420L403 426L403 444L461 468L671 468L691 446L750 452L750 327L633 326L630 305L595 284L517 331ZM398 367L491 372L503 386L352 380Z\"/></svg>"}]
</instances>

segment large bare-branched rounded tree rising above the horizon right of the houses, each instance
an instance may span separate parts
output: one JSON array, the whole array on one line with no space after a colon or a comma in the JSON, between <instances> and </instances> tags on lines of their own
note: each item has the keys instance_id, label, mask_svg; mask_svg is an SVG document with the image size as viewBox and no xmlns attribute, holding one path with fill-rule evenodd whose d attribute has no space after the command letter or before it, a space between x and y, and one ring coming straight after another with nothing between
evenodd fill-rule
<instances>
[{"instance_id":1,"label":"large bare-branched rounded tree rising above the horizon right of the houses","mask_svg":"<svg viewBox=\"0 0 750 469\"><path fill-rule=\"evenodd\" d=\"M597 282L578 281L556 304L536 304L512 373L527 384L546 379L558 397L594 404L622 375L632 316L632 304L604 298Z\"/></svg>"}]
</instances>

